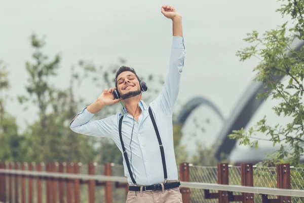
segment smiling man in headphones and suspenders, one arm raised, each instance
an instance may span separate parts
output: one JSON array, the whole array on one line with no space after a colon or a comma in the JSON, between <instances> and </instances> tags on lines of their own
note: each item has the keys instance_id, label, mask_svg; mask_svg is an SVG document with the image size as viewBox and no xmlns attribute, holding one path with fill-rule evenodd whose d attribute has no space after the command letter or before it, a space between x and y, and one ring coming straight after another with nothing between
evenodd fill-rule
<instances>
[{"instance_id":1,"label":"smiling man in headphones and suspenders, one arm raised","mask_svg":"<svg viewBox=\"0 0 304 203\"><path fill-rule=\"evenodd\" d=\"M141 100L147 86L136 72L122 66L116 87L105 89L97 100L70 123L74 132L111 138L124 157L128 177L127 202L182 202L173 147L173 107L178 95L185 49L181 15L170 6L162 14L173 23L169 71L160 95L148 106ZM107 105L123 101L124 114L90 120Z\"/></svg>"}]
</instances>

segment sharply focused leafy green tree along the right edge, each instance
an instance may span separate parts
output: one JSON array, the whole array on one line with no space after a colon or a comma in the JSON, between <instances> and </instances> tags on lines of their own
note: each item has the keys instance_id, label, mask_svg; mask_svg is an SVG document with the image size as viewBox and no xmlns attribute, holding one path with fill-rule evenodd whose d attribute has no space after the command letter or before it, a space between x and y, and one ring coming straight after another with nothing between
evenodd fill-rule
<instances>
[{"instance_id":1,"label":"sharply focused leafy green tree along the right edge","mask_svg":"<svg viewBox=\"0 0 304 203\"><path fill-rule=\"evenodd\" d=\"M272 109L278 117L288 117L290 122L286 125L278 123L270 126L267 124L267 118L263 117L248 131L243 128L233 131L230 138L238 140L241 145L257 148L260 139L256 138L256 133L263 133L265 138L262 140L281 146L263 163L274 164L284 161L299 166L300 158L304 155L304 106L302 103L304 53L302 48L296 51L295 47L291 47L291 43L304 38L302 16L304 1L279 0L279 2L285 4L282 4L276 12L291 20L262 34L257 31L248 33L244 41L252 45L239 50L236 55L241 61L251 57L260 59L254 68L257 73L254 80L262 82L266 90L258 94L257 98L278 100L280 103ZM288 83L278 80L278 77L284 77Z\"/></svg>"}]
</instances>

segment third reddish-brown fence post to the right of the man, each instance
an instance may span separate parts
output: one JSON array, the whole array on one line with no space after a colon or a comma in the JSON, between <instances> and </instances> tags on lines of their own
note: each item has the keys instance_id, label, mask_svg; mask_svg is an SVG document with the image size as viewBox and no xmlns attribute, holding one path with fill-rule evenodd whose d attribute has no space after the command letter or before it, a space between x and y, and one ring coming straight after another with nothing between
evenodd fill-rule
<instances>
[{"instance_id":1,"label":"third reddish-brown fence post to the right of the man","mask_svg":"<svg viewBox=\"0 0 304 203\"><path fill-rule=\"evenodd\" d=\"M253 165L251 163L241 164L241 185L242 186L253 186ZM253 203L253 193L242 193L243 202Z\"/></svg>"}]
</instances>

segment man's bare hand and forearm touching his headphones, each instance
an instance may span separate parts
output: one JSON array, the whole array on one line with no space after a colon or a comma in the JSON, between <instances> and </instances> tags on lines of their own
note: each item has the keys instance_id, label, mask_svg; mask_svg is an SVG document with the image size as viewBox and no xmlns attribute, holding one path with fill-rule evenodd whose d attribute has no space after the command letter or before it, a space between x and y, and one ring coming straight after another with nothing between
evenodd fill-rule
<instances>
[{"instance_id":1,"label":"man's bare hand and forearm touching his headphones","mask_svg":"<svg viewBox=\"0 0 304 203\"><path fill-rule=\"evenodd\" d=\"M113 95L113 90L115 90L115 88L110 88L110 89L105 89L100 96L98 96L97 100L91 104L90 106L87 107L87 110L89 112L91 112L92 114L96 114L97 112L99 112L103 107L107 106L107 105L113 105L115 103L118 103L118 101L120 101L120 99L115 99L114 95Z\"/></svg>"}]
</instances>

